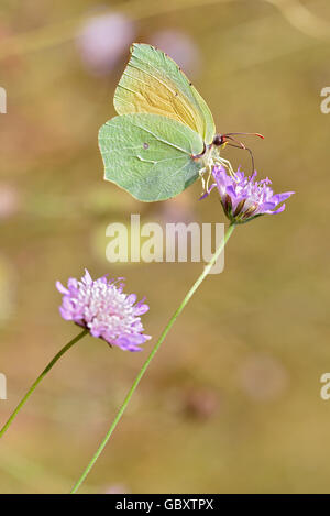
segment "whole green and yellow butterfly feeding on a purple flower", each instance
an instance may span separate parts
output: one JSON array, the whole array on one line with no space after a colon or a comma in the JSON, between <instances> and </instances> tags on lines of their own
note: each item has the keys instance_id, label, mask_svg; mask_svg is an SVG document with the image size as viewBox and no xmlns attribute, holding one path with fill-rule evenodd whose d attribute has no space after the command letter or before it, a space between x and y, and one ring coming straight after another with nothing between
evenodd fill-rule
<instances>
[{"instance_id":1,"label":"whole green and yellow butterfly feeding on a purple flower","mask_svg":"<svg viewBox=\"0 0 330 516\"><path fill-rule=\"evenodd\" d=\"M118 117L99 132L105 178L136 199L175 197L205 173L210 175L215 165L234 174L220 149L237 142L233 135L239 133L216 133L206 101L158 48L142 43L131 46L113 103ZM233 146L246 149L237 143Z\"/></svg>"}]
</instances>

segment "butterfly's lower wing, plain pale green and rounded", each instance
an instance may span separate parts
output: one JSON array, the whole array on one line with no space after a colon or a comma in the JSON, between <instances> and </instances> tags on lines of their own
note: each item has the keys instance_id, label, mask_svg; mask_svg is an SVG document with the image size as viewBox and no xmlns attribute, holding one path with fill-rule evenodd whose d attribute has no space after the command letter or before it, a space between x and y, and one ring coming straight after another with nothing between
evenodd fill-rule
<instances>
[{"instance_id":1,"label":"butterfly's lower wing, plain pale green and rounded","mask_svg":"<svg viewBox=\"0 0 330 516\"><path fill-rule=\"evenodd\" d=\"M99 133L105 177L142 201L165 200L198 178L204 149L189 127L152 113L123 114Z\"/></svg>"}]
</instances>

